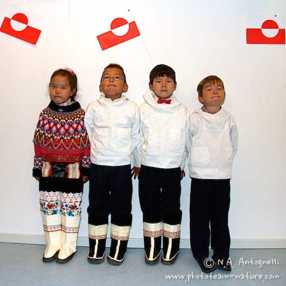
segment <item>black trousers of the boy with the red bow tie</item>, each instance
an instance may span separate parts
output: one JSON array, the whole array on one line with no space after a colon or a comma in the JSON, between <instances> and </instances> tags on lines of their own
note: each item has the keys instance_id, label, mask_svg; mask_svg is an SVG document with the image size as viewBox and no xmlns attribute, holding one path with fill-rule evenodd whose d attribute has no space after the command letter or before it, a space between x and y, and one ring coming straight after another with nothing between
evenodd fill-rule
<instances>
[{"instance_id":1,"label":"black trousers of the boy with the red bow tie","mask_svg":"<svg viewBox=\"0 0 286 286\"><path fill-rule=\"evenodd\" d=\"M161 169L141 165L139 201L144 221L181 223L181 169Z\"/></svg>"}]
</instances>

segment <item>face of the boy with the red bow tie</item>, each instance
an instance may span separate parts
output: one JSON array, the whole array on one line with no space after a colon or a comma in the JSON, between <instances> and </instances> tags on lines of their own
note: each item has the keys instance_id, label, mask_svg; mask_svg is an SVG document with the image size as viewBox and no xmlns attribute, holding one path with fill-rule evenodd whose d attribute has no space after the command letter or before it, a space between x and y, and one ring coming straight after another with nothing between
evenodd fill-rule
<instances>
[{"instance_id":1,"label":"face of the boy with the red bow tie","mask_svg":"<svg viewBox=\"0 0 286 286\"><path fill-rule=\"evenodd\" d=\"M167 76L157 76L153 80L153 84L149 83L151 90L155 92L157 97L163 100L168 99L177 87L177 83L173 78Z\"/></svg>"}]
</instances>

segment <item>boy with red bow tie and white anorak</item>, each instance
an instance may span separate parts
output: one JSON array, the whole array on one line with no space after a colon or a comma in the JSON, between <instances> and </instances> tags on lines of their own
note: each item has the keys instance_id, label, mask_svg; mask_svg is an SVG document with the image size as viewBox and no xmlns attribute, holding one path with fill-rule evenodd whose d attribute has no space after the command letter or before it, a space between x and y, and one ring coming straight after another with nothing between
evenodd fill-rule
<instances>
[{"instance_id":1,"label":"boy with red bow tie and white anorak","mask_svg":"<svg viewBox=\"0 0 286 286\"><path fill-rule=\"evenodd\" d=\"M145 262L158 263L163 234L161 262L173 264L180 249L181 180L185 176L189 112L173 93L177 82L171 67L156 66L149 87L146 102L140 106L141 167L133 168L133 174L139 175Z\"/></svg>"}]
</instances>

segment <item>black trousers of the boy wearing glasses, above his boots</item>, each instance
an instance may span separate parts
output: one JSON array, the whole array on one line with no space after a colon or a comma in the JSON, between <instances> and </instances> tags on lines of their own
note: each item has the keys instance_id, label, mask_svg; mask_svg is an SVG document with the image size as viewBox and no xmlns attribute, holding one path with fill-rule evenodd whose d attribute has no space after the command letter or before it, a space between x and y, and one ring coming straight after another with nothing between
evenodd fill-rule
<instances>
[{"instance_id":1,"label":"black trousers of the boy wearing glasses, above his boots","mask_svg":"<svg viewBox=\"0 0 286 286\"><path fill-rule=\"evenodd\" d=\"M132 181L130 165L99 166L91 164L89 177L88 223L111 222L131 225Z\"/></svg>"}]
</instances>

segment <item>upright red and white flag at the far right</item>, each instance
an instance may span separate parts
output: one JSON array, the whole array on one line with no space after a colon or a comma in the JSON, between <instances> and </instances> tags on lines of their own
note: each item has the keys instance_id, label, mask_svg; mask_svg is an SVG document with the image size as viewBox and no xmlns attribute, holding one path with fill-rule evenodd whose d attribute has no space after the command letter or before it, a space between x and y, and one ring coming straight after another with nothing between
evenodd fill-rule
<instances>
[{"instance_id":1,"label":"upright red and white flag at the far right","mask_svg":"<svg viewBox=\"0 0 286 286\"><path fill-rule=\"evenodd\" d=\"M246 15L247 44L285 44L284 15Z\"/></svg>"}]
</instances>

